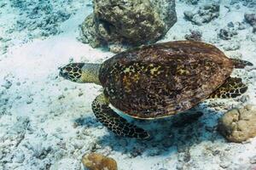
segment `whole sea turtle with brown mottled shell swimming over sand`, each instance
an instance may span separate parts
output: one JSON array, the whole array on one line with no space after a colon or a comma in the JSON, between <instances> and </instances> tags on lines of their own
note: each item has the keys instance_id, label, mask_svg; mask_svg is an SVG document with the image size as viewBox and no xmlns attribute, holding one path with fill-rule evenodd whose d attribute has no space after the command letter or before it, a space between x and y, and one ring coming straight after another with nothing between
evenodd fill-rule
<instances>
[{"instance_id":1,"label":"whole sea turtle with brown mottled shell swimming over sand","mask_svg":"<svg viewBox=\"0 0 256 170\"><path fill-rule=\"evenodd\" d=\"M118 135L147 139L143 128L112 108L138 119L155 119L189 110L203 99L236 98L247 86L230 74L246 65L252 64L229 59L211 44L175 41L133 48L102 64L68 64L60 76L102 85L103 93L92 102L97 120Z\"/></svg>"}]
</instances>

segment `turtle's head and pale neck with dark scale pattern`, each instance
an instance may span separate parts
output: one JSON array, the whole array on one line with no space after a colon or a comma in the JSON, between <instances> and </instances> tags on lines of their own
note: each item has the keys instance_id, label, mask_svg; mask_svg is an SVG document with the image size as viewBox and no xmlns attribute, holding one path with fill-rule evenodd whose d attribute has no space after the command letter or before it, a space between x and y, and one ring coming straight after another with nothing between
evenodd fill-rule
<instances>
[{"instance_id":1,"label":"turtle's head and pale neck with dark scale pattern","mask_svg":"<svg viewBox=\"0 0 256 170\"><path fill-rule=\"evenodd\" d=\"M61 67L60 76L72 82L94 82L100 84L99 64L71 63Z\"/></svg>"}]
</instances>

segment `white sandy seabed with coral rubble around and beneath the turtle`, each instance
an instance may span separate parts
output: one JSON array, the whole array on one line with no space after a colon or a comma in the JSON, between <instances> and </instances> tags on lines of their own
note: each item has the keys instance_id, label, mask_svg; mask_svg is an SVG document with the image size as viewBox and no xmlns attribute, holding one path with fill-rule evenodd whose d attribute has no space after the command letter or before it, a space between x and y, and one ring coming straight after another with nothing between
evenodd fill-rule
<instances>
[{"instance_id":1,"label":"white sandy seabed with coral rubble around and beneath the turtle","mask_svg":"<svg viewBox=\"0 0 256 170\"><path fill-rule=\"evenodd\" d=\"M234 72L233 76L242 77L248 84L247 94L235 100L204 102L195 107L204 113L197 120L186 123L183 118L172 117L137 122L153 134L148 141L116 137L96 122L90 104L101 87L58 77L58 67L71 60L102 63L113 56L76 39L79 24L92 10L91 5L79 5L60 25L61 34L22 42L26 33L13 32L17 35L10 40L7 53L0 55L0 169L82 169L81 157L92 151L113 157L122 170L256 169L255 138L243 144L228 143L216 130L224 111L256 104L255 70ZM189 29L197 29L202 31L203 41L221 49L239 42L241 48L224 52L256 65L252 27L239 31L230 41L217 38L219 28L230 21L241 22L243 14L252 8L230 6L229 12L224 5L230 6L221 4L218 19L195 26L183 19L183 11L195 7L177 2L177 24L161 42L183 39ZM9 17L3 17L8 11ZM0 36L6 37L15 13L9 9L0 17Z\"/></svg>"}]
</instances>

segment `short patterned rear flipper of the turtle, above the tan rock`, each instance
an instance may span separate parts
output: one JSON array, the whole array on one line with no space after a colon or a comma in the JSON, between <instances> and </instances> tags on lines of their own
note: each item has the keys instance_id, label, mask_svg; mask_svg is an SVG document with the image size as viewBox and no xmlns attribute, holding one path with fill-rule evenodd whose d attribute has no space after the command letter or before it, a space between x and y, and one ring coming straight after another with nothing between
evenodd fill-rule
<instances>
[{"instance_id":1,"label":"short patterned rear flipper of the turtle, above the tan rock","mask_svg":"<svg viewBox=\"0 0 256 170\"><path fill-rule=\"evenodd\" d=\"M247 86L241 82L241 78L229 77L224 84L215 90L209 98L236 98L247 91Z\"/></svg>"}]
</instances>

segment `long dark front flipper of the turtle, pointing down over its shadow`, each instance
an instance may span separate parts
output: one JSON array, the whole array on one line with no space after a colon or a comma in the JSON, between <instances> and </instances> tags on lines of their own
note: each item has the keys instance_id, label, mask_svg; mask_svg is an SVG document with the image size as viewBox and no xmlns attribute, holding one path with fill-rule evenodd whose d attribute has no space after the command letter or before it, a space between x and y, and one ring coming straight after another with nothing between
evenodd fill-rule
<instances>
[{"instance_id":1,"label":"long dark front flipper of the turtle, pointing down over its shadow","mask_svg":"<svg viewBox=\"0 0 256 170\"><path fill-rule=\"evenodd\" d=\"M92 102L92 111L94 112L97 120L113 133L119 136L137 138L137 139L148 139L149 134L140 127L132 125L127 122L123 117L115 113L110 107L108 99L105 98L104 94L100 94Z\"/></svg>"}]
</instances>

